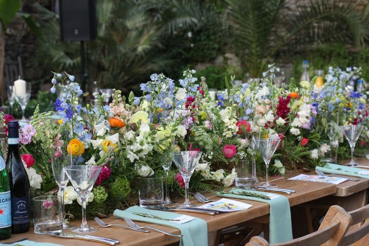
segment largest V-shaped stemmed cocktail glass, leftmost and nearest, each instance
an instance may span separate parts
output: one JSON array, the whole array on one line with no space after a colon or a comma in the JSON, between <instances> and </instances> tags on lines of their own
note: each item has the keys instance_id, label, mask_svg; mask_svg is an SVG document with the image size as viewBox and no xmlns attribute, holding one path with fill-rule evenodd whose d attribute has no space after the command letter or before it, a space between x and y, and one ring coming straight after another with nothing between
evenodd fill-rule
<instances>
[{"instance_id":1,"label":"largest V-shaped stemmed cocktail glass, leftmost and nearest","mask_svg":"<svg viewBox=\"0 0 369 246\"><path fill-rule=\"evenodd\" d=\"M80 227L73 229L73 232L91 233L97 231L97 229L87 225L86 200L101 172L101 168L101 166L93 165L77 165L63 168L82 201L82 224Z\"/></svg>"}]
</instances>

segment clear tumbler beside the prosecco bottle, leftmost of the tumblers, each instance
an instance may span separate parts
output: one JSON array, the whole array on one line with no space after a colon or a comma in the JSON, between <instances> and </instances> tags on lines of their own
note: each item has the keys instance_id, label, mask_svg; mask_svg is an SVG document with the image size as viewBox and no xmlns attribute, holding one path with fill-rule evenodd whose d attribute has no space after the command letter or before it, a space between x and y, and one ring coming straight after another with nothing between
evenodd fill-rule
<instances>
[{"instance_id":1,"label":"clear tumbler beside the prosecco bottle, leftmost of the tumblers","mask_svg":"<svg viewBox=\"0 0 369 246\"><path fill-rule=\"evenodd\" d=\"M33 199L34 225L36 234L62 232L63 213L61 196L38 196Z\"/></svg>"}]
</instances>

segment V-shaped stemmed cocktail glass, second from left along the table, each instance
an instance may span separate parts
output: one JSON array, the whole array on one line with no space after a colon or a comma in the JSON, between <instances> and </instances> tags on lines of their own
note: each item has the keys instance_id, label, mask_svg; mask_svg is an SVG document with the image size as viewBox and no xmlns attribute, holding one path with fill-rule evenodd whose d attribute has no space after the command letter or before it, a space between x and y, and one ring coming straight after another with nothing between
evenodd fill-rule
<instances>
[{"instance_id":1,"label":"V-shaped stemmed cocktail glass, second from left along the table","mask_svg":"<svg viewBox=\"0 0 369 246\"><path fill-rule=\"evenodd\" d=\"M184 207L192 207L192 203L188 198L188 185L190 183L190 178L192 176L193 171L199 161L202 152L201 151L181 151L181 152L173 152L170 154L173 158L174 164L176 164L179 172L182 175L182 178L185 183L185 191L186 198L182 206Z\"/></svg>"}]
</instances>

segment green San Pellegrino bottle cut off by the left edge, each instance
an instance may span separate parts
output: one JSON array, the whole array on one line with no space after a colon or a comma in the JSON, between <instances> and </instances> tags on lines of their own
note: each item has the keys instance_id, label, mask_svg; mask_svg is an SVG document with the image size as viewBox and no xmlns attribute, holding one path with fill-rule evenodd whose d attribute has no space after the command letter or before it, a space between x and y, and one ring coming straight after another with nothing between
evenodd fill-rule
<instances>
[{"instance_id":1,"label":"green San Pellegrino bottle cut off by the left edge","mask_svg":"<svg viewBox=\"0 0 369 246\"><path fill-rule=\"evenodd\" d=\"M0 240L12 235L12 207L8 170L0 149Z\"/></svg>"}]
</instances>

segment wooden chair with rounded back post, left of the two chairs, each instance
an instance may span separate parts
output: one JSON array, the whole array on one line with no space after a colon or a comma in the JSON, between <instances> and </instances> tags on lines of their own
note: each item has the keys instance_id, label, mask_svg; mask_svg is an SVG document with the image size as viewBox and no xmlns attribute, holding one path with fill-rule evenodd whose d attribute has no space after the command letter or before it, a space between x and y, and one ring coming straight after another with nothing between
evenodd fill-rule
<instances>
[{"instance_id":1,"label":"wooden chair with rounded back post, left of the two chairs","mask_svg":"<svg viewBox=\"0 0 369 246\"><path fill-rule=\"evenodd\" d=\"M293 239L284 243L271 244L272 246L306 246L326 245L337 246L342 240L352 222L351 215L343 208L333 205L329 208L319 229L311 234ZM254 236L245 246L269 246L267 240Z\"/></svg>"}]
</instances>

